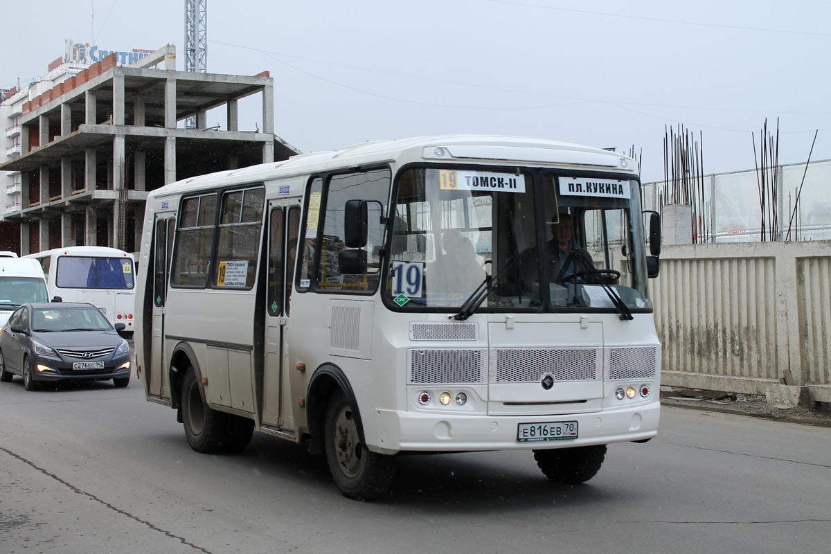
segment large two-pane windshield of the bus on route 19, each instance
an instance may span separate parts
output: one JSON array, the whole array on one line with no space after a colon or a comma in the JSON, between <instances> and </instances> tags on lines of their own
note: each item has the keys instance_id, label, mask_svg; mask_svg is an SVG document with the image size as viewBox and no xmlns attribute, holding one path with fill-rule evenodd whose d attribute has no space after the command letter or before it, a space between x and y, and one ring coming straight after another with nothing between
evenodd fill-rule
<instances>
[{"instance_id":1,"label":"large two-pane windshield of the bus on route 19","mask_svg":"<svg viewBox=\"0 0 831 554\"><path fill-rule=\"evenodd\" d=\"M486 311L651 309L638 187L534 169L406 169L386 294L403 310L453 310L477 288Z\"/></svg>"}]
</instances>

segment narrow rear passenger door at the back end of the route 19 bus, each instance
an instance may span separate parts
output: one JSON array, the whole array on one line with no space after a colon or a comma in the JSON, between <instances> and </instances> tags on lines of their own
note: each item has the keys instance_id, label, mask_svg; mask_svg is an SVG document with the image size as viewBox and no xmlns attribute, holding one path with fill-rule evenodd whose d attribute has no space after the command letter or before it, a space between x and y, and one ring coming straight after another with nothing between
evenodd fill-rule
<instances>
[{"instance_id":1,"label":"narrow rear passenger door at the back end of the route 19 bus","mask_svg":"<svg viewBox=\"0 0 831 554\"><path fill-rule=\"evenodd\" d=\"M173 235L176 214L160 213L155 217L153 232L153 302L152 331L150 339L150 365L147 387L151 396L170 398L170 386L165 370L165 302L170 277L170 257L173 254Z\"/></svg>"}]
</instances>

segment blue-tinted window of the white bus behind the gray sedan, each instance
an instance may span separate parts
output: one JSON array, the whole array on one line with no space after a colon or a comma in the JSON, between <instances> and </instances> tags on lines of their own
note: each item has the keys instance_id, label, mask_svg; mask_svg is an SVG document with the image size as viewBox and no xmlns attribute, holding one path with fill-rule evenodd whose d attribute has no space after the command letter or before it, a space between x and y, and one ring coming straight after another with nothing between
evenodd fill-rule
<instances>
[{"instance_id":1,"label":"blue-tinted window of the white bus behind the gray sedan","mask_svg":"<svg viewBox=\"0 0 831 554\"><path fill-rule=\"evenodd\" d=\"M126 257L61 256L57 259L57 287L133 288L133 262Z\"/></svg>"}]
</instances>

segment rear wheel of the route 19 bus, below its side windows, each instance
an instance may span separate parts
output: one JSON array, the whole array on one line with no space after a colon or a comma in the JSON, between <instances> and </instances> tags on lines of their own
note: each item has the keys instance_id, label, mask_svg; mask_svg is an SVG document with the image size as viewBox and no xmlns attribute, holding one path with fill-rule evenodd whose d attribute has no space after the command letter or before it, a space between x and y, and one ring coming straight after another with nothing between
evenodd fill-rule
<instances>
[{"instance_id":1,"label":"rear wheel of the route 19 bus, below its side windows","mask_svg":"<svg viewBox=\"0 0 831 554\"><path fill-rule=\"evenodd\" d=\"M182 423L190 448L204 454L241 452L253 434L253 420L225 414L204 403L193 368L182 381Z\"/></svg>"}]
</instances>

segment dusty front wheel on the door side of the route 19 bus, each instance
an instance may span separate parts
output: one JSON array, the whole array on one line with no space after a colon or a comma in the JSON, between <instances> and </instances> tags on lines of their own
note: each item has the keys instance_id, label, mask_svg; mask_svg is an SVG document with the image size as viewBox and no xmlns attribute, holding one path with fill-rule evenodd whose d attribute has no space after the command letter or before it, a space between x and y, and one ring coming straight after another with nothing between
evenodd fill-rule
<instances>
[{"instance_id":1,"label":"dusty front wheel on the door side of the route 19 bus","mask_svg":"<svg viewBox=\"0 0 831 554\"><path fill-rule=\"evenodd\" d=\"M370 452L361 444L352 405L340 391L329 400L323 442L329 472L343 496L374 500L390 490L394 458Z\"/></svg>"}]
</instances>

